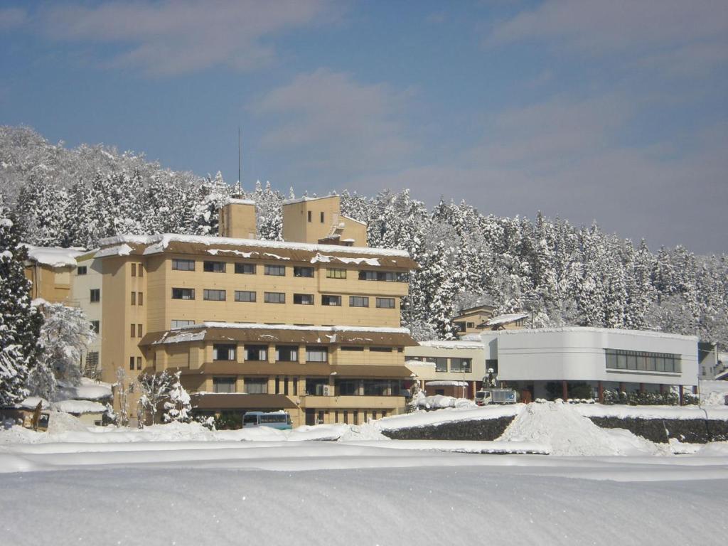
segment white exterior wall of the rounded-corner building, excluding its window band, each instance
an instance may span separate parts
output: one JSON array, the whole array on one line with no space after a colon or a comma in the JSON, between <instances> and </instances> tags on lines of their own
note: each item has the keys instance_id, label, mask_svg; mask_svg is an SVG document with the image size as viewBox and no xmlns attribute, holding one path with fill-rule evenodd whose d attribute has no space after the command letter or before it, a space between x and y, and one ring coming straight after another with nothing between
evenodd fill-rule
<instances>
[{"instance_id":1,"label":"white exterior wall of the rounded-corner building, excluding its window band","mask_svg":"<svg viewBox=\"0 0 728 546\"><path fill-rule=\"evenodd\" d=\"M697 338L608 328L499 331L481 334L501 381L609 381L697 384ZM608 370L604 349L681 355L681 373Z\"/></svg>"}]
</instances>

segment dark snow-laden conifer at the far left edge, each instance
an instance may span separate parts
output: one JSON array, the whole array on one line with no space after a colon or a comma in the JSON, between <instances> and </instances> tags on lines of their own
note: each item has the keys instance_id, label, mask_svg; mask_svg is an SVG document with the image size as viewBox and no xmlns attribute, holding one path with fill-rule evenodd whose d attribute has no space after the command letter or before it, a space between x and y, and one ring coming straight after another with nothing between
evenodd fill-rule
<instances>
[{"instance_id":1,"label":"dark snow-laden conifer at the far left edge","mask_svg":"<svg viewBox=\"0 0 728 546\"><path fill-rule=\"evenodd\" d=\"M0 208L0 405L28 395L25 381L38 361L43 317L31 305L31 283L23 273L26 258L15 223Z\"/></svg>"}]
</instances>

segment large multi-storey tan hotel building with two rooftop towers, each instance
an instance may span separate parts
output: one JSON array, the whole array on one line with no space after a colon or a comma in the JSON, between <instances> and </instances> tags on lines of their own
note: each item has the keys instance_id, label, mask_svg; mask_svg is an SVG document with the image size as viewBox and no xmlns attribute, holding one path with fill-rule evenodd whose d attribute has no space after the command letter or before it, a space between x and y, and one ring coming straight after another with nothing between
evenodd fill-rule
<instances>
[{"instance_id":1,"label":"large multi-storey tan hotel building with two rooftop towers","mask_svg":"<svg viewBox=\"0 0 728 546\"><path fill-rule=\"evenodd\" d=\"M99 284L82 285L82 306L100 317L103 381L179 370L198 414L285 410L294 426L403 411L416 342L400 301L414 261L368 248L337 196L286 202L285 241L255 233L255 205L231 199L219 237L102 240L92 272L71 275Z\"/></svg>"}]
</instances>

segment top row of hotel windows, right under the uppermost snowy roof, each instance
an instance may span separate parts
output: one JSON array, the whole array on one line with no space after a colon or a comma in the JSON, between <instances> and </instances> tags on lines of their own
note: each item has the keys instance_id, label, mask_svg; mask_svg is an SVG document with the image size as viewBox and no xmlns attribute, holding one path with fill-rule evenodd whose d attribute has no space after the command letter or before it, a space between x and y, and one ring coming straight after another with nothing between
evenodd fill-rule
<instances>
[{"instance_id":1,"label":"top row of hotel windows, right under the uppermost snowy roof","mask_svg":"<svg viewBox=\"0 0 728 546\"><path fill-rule=\"evenodd\" d=\"M172 269L177 271L194 271L195 261L181 258L172 260ZM263 273L266 275L274 275L276 277L285 277L286 266L280 265L264 265ZM258 271L256 264L244 264L236 262L234 270L238 274L254 275ZM227 262L205 260L202 262L202 271L208 273L225 273L227 271ZM311 266L293 266L293 277L309 277L313 278L315 268ZM328 279L346 279L347 269L342 268L326 268L326 278ZM371 271L362 270L358 272L359 280L380 280L385 282L407 282L406 273L398 273L393 271Z\"/></svg>"}]
</instances>

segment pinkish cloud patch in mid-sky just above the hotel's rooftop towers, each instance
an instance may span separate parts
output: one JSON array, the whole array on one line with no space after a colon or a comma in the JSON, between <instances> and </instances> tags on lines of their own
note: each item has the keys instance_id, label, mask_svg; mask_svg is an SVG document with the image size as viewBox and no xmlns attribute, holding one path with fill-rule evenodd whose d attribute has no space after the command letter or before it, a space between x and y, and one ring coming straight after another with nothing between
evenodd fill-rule
<instances>
[{"instance_id":1,"label":"pinkish cloud patch in mid-sky just above the hotel's rooftop towers","mask_svg":"<svg viewBox=\"0 0 728 546\"><path fill-rule=\"evenodd\" d=\"M402 120L409 97L408 90L320 68L268 92L251 110L274 120L261 139L267 148L352 175L399 165L412 151Z\"/></svg>"}]
</instances>

